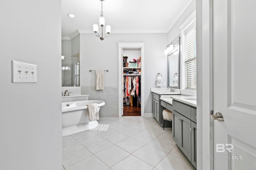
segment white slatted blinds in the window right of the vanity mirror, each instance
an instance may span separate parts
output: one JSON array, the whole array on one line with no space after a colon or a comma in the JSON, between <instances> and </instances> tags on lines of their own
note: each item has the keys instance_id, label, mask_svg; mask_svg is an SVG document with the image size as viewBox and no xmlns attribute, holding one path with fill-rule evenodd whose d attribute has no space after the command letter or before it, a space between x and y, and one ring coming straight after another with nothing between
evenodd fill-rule
<instances>
[{"instance_id":1,"label":"white slatted blinds in the window right of the vanity mirror","mask_svg":"<svg viewBox=\"0 0 256 170\"><path fill-rule=\"evenodd\" d=\"M196 90L196 26L184 31L185 89Z\"/></svg>"}]
</instances>

